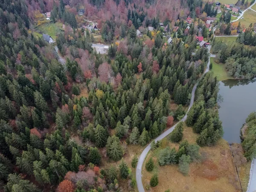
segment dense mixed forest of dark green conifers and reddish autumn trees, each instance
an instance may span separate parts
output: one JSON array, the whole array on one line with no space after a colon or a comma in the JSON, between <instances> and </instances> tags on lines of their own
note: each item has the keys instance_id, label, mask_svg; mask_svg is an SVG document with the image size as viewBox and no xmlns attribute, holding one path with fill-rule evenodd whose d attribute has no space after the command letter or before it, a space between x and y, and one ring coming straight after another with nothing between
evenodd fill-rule
<instances>
[{"instance_id":1,"label":"dense mixed forest of dark green conifers and reddish autumn trees","mask_svg":"<svg viewBox=\"0 0 256 192\"><path fill-rule=\"evenodd\" d=\"M159 24L186 17L189 11L196 15L202 1L172 3L84 1L88 17L104 15L98 26L102 39L111 43L106 55L97 53L93 35L79 28L75 0L0 3L0 191L121 191L123 180L134 190L136 180L123 159L127 146L143 147L182 119L197 82L186 125L199 134L198 145L215 145L223 131L216 108L218 82L212 74L202 75L209 51L197 49L193 26L187 35L178 31L180 38L167 44ZM38 10L51 12L52 23L70 26L55 42L65 64L52 45L33 35ZM155 31L139 38L136 32L142 26ZM185 29L184 23L179 26ZM255 75L250 64L254 48L217 41L213 47L221 47L220 59L227 66L239 58L240 71L232 65L229 73ZM171 136L175 142L182 131L180 126ZM191 148L185 144L181 148ZM180 153L182 159L177 156L175 163L186 163L186 154ZM119 161L118 166L102 168L106 159ZM136 163L134 157L131 166Z\"/></svg>"}]
</instances>

